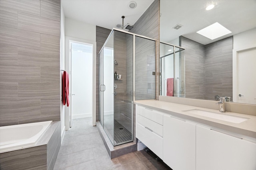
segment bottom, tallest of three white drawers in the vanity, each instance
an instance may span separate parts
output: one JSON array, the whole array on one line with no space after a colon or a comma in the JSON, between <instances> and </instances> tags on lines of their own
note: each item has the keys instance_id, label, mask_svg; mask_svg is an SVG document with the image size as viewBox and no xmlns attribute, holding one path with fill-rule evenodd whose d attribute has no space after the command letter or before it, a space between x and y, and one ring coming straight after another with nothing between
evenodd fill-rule
<instances>
[{"instance_id":1,"label":"bottom, tallest of three white drawers in the vanity","mask_svg":"<svg viewBox=\"0 0 256 170\"><path fill-rule=\"evenodd\" d=\"M163 159L163 138L149 131L137 123L136 137L152 150L159 158Z\"/></svg>"}]
</instances>

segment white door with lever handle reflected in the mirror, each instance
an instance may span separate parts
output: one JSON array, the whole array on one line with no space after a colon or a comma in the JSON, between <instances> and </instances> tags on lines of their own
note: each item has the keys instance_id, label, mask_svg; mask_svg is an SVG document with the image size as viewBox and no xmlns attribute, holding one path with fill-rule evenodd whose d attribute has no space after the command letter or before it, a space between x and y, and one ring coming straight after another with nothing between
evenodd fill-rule
<instances>
[{"instance_id":1,"label":"white door with lever handle reflected in the mirror","mask_svg":"<svg viewBox=\"0 0 256 170\"><path fill-rule=\"evenodd\" d=\"M238 103L256 104L256 48L238 52Z\"/></svg>"}]
</instances>

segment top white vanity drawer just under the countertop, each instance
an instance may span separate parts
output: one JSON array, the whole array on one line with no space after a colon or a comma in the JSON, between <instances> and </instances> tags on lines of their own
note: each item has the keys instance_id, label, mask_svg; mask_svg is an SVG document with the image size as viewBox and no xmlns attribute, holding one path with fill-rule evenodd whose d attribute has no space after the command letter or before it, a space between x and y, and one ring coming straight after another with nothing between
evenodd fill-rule
<instances>
[{"instance_id":1,"label":"top white vanity drawer just under the countertop","mask_svg":"<svg viewBox=\"0 0 256 170\"><path fill-rule=\"evenodd\" d=\"M138 106L138 115L142 115L160 125L163 125L163 114L148 109L146 107Z\"/></svg>"}]
</instances>

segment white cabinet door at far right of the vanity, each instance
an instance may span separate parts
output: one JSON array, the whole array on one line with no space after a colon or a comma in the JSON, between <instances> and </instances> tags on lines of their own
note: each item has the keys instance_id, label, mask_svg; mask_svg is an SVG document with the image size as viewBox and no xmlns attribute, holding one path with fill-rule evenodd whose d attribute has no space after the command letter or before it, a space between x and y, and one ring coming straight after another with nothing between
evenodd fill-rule
<instances>
[{"instance_id":1,"label":"white cabinet door at far right of the vanity","mask_svg":"<svg viewBox=\"0 0 256 170\"><path fill-rule=\"evenodd\" d=\"M256 144L197 125L196 170L256 170Z\"/></svg>"}]
</instances>

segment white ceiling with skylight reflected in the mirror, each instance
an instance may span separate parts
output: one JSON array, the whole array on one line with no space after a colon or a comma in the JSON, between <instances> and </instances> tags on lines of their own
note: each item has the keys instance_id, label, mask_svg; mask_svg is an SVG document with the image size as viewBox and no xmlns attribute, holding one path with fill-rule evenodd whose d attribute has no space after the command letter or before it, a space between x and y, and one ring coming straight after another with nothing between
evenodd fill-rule
<instances>
[{"instance_id":1,"label":"white ceiling with skylight reflected in the mirror","mask_svg":"<svg viewBox=\"0 0 256 170\"><path fill-rule=\"evenodd\" d=\"M160 41L167 43L183 35L206 45L256 27L256 0L160 0L160 13ZM232 33L214 40L196 33L215 22ZM172 29L176 24L183 27Z\"/></svg>"}]
</instances>

